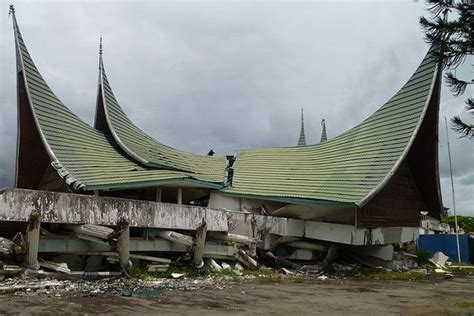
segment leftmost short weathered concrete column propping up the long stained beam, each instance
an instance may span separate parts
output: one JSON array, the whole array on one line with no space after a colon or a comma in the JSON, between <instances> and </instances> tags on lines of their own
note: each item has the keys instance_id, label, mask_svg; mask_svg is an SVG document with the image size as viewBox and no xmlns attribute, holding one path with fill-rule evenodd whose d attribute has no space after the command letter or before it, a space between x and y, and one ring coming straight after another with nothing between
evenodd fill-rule
<instances>
[{"instance_id":1,"label":"leftmost short weathered concrete column propping up the long stained beam","mask_svg":"<svg viewBox=\"0 0 474 316\"><path fill-rule=\"evenodd\" d=\"M38 262L40 225L41 214L37 210L33 210L26 226L26 256L24 261L25 267L32 270L38 270L40 268Z\"/></svg>"}]
</instances>

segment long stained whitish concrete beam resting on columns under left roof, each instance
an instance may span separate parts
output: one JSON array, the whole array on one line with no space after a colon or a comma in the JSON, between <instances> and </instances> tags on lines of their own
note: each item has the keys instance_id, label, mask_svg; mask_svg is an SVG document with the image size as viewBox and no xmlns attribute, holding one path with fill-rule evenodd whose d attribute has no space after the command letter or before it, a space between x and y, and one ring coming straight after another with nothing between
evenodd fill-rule
<instances>
[{"instance_id":1,"label":"long stained whitish concrete beam resting on columns under left roof","mask_svg":"<svg viewBox=\"0 0 474 316\"><path fill-rule=\"evenodd\" d=\"M226 213L176 205L74 193L23 189L0 190L0 221L28 221L36 209L44 223L114 225L130 219L130 227L195 230L204 218L209 231L228 231Z\"/></svg>"}]
</instances>

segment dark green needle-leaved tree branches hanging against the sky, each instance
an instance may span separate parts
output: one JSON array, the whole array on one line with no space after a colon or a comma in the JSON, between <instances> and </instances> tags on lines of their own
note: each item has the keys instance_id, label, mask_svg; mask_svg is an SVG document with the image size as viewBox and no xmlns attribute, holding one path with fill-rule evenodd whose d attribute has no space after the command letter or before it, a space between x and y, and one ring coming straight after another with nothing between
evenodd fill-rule
<instances>
[{"instance_id":1,"label":"dark green needle-leaved tree branches hanging against the sky","mask_svg":"<svg viewBox=\"0 0 474 316\"><path fill-rule=\"evenodd\" d=\"M434 45L436 54L442 59L447 71L444 78L454 96L464 94L474 79L458 78L456 68L474 52L474 0L427 0L431 16L420 17L425 40ZM448 19L448 12L453 18ZM453 72L454 71L454 72ZM468 96L466 111L474 116L474 98ZM459 116L451 118L451 128L461 137L474 139L473 122L463 121Z\"/></svg>"}]
</instances>

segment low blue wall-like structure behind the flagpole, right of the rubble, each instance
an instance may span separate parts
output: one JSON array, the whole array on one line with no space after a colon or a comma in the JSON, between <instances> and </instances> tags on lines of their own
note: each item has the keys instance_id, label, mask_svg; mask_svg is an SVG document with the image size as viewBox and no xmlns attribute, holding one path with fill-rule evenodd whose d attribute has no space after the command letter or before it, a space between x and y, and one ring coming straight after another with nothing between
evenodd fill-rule
<instances>
[{"instance_id":1,"label":"low blue wall-like structure behind the flagpole, right of the rubble","mask_svg":"<svg viewBox=\"0 0 474 316\"><path fill-rule=\"evenodd\" d=\"M468 235L459 235L461 261L464 263L469 263L471 259L469 239ZM427 251L431 255L435 252L441 251L449 257L451 262L458 262L455 234L420 235L420 238L418 239L418 249L420 251Z\"/></svg>"}]
</instances>

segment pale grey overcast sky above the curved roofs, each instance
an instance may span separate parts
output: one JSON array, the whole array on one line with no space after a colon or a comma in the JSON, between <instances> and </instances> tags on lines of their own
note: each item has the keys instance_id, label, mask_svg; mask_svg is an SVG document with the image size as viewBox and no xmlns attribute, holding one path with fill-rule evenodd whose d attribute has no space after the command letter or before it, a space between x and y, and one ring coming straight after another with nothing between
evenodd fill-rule
<instances>
[{"instance_id":1,"label":"pale grey overcast sky above the curved roofs","mask_svg":"<svg viewBox=\"0 0 474 316\"><path fill-rule=\"evenodd\" d=\"M15 51L9 2L0 7L0 187L12 186ZM219 155L296 145L354 127L410 77L427 51L423 1L15 1L26 45L45 80L92 124L99 36L109 81L140 128L178 149ZM458 75L471 79L474 61ZM473 91L466 91L472 95ZM440 173L452 207L443 117L463 98L443 88ZM474 215L474 142L450 131L457 208Z\"/></svg>"}]
</instances>

